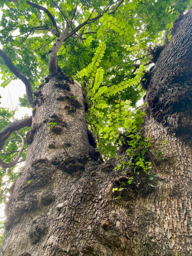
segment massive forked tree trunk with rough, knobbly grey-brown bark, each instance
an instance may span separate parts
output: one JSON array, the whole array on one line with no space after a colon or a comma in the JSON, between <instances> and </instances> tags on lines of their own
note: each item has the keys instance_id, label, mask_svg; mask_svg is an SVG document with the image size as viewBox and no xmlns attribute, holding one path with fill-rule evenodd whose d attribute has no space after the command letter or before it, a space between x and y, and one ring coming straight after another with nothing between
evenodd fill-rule
<instances>
[{"instance_id":1,"label":"massive forked tree trunk with rough, knobbly grey-brown bark","mask_svg":"<svg viewBox=\"0 0 192 256\"><path fill-rule=\"evenodd\" d=\"M191 255L192 157L184 140L192 131L190 14L175 23L148 81L141 134L165 155L160 161L150 154L158 186L135 184L114 199L122 173L114 170L116 159L96 162L80 85L52 78L36 92L26 166L7 204L2 256Z\"/></svg>"}]
</instances>

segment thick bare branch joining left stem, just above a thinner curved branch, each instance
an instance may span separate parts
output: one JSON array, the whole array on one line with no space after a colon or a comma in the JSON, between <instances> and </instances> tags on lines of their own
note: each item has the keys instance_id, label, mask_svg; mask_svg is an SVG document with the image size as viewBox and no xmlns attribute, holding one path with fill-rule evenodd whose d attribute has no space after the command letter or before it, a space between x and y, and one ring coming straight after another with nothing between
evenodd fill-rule
<instances>
[{"instance_id":1,"label":"thick bare branch joining left stem, just above a thinner curved branch","mask_svg":"<svg viewBox=\"0 0 192 256\"><path fill-rule=\"evenodd\" d=\"M19 129L26 126L31 126L31 124L32 124L32 116L29 116L24 119L20 119L15 122L12 122L10 125L7 125L5 128L3 128L3 130L0 131L0 150L1 148L3 148L3 145L6 139L8 139L9 136L14 131L18 131Z\"/></svg>"}]
</instances>

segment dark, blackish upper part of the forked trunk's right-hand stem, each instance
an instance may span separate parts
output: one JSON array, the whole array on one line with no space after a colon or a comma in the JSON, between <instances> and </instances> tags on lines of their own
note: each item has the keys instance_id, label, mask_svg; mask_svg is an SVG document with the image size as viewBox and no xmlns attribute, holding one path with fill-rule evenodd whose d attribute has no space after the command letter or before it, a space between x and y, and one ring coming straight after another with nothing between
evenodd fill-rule
<instances>
[{"instance_id":1,"label":"dark, blackish upper part of the forked trunk's right-hand stem","mask_svg":"<svg viewBox=\"0 0 192 256\"><path fill-rule=\"evenodd\" d=\"M170 43L163 46L152 72L148 72L143 87L148 114L170 131L192 139L192 20L190 9L181 15L173 29ZM182 47L183 46L183 47Z\"/></svg>"}]
</instances>

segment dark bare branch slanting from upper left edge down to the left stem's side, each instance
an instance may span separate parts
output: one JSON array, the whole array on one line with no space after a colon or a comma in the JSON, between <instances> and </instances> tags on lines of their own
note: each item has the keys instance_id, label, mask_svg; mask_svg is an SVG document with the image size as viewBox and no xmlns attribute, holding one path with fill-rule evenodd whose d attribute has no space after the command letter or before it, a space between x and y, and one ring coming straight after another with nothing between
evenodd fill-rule
<instances>
[{"instance_id":1,"label":"dark bare branch slanting from upper left edge down to the left stem's side","mask_svg":"<svg viewBox=\"0 0 192 256\"><path fill-rule=\"evenodd\" d=\"M29 103L32 104L33 93L32 93L32 86L29 79L26 78L26 76L24 76L23 73L21 73L19 70L17 70L17 68L12 63L9 56L6 55L6 53L3 52L1 49L0 49L0 56L3 58L3 60L5 61L5 64L15 74L15 76L17 76L25 84L27 99L29 100Z\"/></svg>"}]
</instances>

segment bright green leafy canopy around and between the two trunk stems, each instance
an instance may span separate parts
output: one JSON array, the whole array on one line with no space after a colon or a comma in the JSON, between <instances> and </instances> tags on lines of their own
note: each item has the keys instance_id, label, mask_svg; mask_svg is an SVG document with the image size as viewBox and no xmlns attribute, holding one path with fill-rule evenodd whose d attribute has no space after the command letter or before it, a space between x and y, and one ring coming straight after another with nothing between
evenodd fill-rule
<instances>
[{"instance_id":1,"label":"bright green leafy canopy around and between the two trunk stems","mask_svg":"<svg viewBox=\"0 0 192 256\"><path fill-rule=\"evenodd\" d=\"M143 142L141 145L139 135L144 113L133 111L136 102L145 94L140 80L148 69L153 50L163 44L163 31L167 30L170 39L174 20L189 6L190 1L79 0L75 15L76 0L33 2L49 10L59 32L65 28L65 18L76 19L72 24L74 29L85 20L100 15L95 22L82 26L75 38L68 38L64 42L58 52L58 65L68 76L81 82L88 105L88 127L97 138L98 150L105 159L115 155L123 143L124 132L134 134L133 138L130 137L133 145L130 144L132 149L128 153L132 155L134 148L140 147L139 151L143 153L139 154L144 155L148 144ZM17 3L0 0L0 8L3 12L0 21L0 43L3 50L17 69L29 78L33 89L36 89L48 75L48 51L57 40L47 30L47 27L54 28L52 22L44 12L29 6L26 0L18 0ZM138 63L138 68L133 66ZM3 75L1 86L5 87L16 77L1 58L0 67ZM20 105L29 107L26 96L20 99ZM11 120L12 116L13 113L1 108L0 129L10 123L8 119ZM26 131L23 128L20 133L25 137ZM19 139L13 133L8 140ZM17 151L20 145L19 141L6 142L1 158L6 157L5 161L12 161L17 152L7 153ZM25 152L22 154L24 157ZM134 164L136 169L139 166L148 172L150 164L143 160L143 156L135 155L133 158L134 161L131 160L128 165ZM1 185L5 175L11 180L17 176L14 168L0 169L0 173ZM5 198L5 193L4 186L0 192L1 198Z\"/></svg>"}]
</instances>

